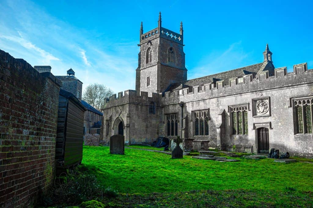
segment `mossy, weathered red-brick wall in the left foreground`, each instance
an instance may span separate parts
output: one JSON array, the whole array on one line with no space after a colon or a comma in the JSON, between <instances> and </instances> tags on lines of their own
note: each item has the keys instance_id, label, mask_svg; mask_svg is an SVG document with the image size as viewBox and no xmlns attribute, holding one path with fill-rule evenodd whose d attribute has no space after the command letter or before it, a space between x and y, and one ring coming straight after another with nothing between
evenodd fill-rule
<instances>
[{"instance_id":1,"label":"mossy, weathered red-brick wall in the left foreground","mask_svg":"<svg viewBox=\"0 0 313 208\"><path fill-rule=\"evenodd\" d=\"M53 181L60 85L0 50L0 207L33 206Z\"/></svg>"}]
</instances>

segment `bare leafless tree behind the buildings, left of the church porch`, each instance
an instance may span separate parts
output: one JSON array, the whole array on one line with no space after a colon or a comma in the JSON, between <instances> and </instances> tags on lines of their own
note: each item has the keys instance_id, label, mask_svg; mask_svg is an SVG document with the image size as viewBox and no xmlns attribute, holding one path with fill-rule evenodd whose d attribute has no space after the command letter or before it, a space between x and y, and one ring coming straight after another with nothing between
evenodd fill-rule
<instances>
[{"instance_id":1,"label":"bare leafless tree behind the buildings, left of the church porch","mask_svg":"<svg viewBox=\"0 0 313 208\"><path fill-rule=\"evenodd\" d=\"M113 94L114 92L105 85L94 83L86 87L82 99L100 111L105 107L105 98Z\"/></svg>"}]
</instances>

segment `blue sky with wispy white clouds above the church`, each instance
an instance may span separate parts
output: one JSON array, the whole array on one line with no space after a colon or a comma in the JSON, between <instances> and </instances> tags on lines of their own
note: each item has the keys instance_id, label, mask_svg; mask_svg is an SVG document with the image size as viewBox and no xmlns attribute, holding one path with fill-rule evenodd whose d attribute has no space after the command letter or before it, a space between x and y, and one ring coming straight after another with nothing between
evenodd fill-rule
<instances>
[{"instance_id":1,"label":"blue sky with wispy white clouds above the church","mask_svg":"<svg viewBox=\"0 0 313 208\"><path fill-rule=\"evenodd\" d=\"M135 89L139 29L184 27L188 79L263 61L313 68L312 1L0 1L0 49L86 87Z\"/></svg>"}]
</instances>

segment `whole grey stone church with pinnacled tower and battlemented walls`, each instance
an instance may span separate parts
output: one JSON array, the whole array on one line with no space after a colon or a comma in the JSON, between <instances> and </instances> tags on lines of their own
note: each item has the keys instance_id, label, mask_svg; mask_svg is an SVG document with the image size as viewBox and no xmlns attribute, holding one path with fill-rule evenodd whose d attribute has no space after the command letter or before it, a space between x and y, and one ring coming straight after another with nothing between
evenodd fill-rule
<instances>
[{"instance_id":1,"label":"whole grey stone church with pinnacled tower and battlemented walls","mask_svg":"<svg viewBox=\"0 0 313 208\"><path fill-rule=\"evenodd\" d=\"M151 144L180 136L194 150L264 153L270 148L313 156L313 70L275 68L266 45L263 62L187 80L183 27L140 28L136 90L106 99L103 139ZM261 57L261 52L260 52Z\"/></svg>"}]
</instances>

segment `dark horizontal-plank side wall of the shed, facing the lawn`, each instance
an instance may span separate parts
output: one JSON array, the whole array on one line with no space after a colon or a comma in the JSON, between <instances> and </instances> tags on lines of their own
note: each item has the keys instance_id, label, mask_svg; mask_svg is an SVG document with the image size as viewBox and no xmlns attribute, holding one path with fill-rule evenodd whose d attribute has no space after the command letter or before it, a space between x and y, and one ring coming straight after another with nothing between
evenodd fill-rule
<instances>
[{"instance_id":1,"label":"dark horizontal-plank side wall of the shed, facing the lawn","mask_svg":"<svg viewBox=\"0 0 313 208\"><path fill-rule=\"evenodd\" d=\"M85 110L69 100L66 122L64 166L70 167L83 159Z\"/></svg>"}]
</instances>

